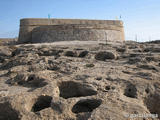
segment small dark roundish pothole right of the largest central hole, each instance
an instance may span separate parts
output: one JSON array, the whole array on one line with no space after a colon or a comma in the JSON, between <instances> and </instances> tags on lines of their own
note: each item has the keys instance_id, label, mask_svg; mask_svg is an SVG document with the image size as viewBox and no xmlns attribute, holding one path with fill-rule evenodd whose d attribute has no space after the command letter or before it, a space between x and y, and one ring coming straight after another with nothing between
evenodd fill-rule
<instances>
[{"instance_id":1,"label":"small dark roundish pothole right of the largest central hole","mask_svg":"<svg viewBox=\"0 0 160 120\"><path fill-rule=\"evenodd\" d=\"M124 90L124 95L130 98L137 98L137 88L134 84L128 84Z\"/></svg>"}]
</instances>

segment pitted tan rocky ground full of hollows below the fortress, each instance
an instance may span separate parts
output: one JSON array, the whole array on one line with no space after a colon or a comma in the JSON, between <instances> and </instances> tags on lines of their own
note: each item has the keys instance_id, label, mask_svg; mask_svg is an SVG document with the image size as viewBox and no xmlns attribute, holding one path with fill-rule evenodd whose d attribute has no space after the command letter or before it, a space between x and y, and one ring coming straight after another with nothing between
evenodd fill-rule
<instances>
[{"instance_id":1,"label":"pitted tan rocky ground full of hollows below the fortress","mask_svg":"<svg viewBox=\"0 0 160 120\"><path fill-rule=\"evenodd\" d=\"M157 115L160 42L0 46L0 120Z\"/></svg>"}]
</instances>

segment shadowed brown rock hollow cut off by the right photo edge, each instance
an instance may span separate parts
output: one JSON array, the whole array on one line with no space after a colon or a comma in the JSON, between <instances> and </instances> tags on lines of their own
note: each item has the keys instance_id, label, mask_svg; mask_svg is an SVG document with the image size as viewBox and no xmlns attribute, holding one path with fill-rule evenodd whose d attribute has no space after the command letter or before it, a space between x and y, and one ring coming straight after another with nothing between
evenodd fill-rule
<instances>
[{"instance_id":1,"label":"shadowed brown rock hollow cut off by the right photo edge","mask_svg":"<svg viewBox=\"0 0 160 120\"><path fill-rule=\"evenodd\" d=\"M160 118L160 95L158 93L150 94L145 99L145 104L151 114L158 114Z\"/></svg>"}]
</instances>

